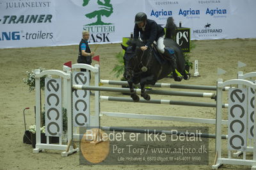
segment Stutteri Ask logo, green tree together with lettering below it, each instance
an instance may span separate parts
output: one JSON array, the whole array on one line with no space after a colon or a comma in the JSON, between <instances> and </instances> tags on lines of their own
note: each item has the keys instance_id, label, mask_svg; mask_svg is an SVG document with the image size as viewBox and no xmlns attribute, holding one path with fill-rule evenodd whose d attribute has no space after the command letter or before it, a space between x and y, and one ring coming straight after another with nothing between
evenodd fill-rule
<instances>
[{"instance_id":1,"label":"Stutteri Ask logo, green tree together with lettering below it","mask_svg":"<svg viewBox=\"0 0 256 170\"><path fill-rule=\"evenodd\" d=\"M83 26L84 30L90 31L91 33L89 42L111 42L109 37L111 33L115 32L115 26L112 23L102 21L102 16L109 17L113 13L113 6L110 0L97 1L97 4L94 1L83 0L83 6L86 6L87 9L91 5L94 5L93 9L96 6L96 10L91 10L84 16L95 22Z\"/></svg>"}]
</instances>

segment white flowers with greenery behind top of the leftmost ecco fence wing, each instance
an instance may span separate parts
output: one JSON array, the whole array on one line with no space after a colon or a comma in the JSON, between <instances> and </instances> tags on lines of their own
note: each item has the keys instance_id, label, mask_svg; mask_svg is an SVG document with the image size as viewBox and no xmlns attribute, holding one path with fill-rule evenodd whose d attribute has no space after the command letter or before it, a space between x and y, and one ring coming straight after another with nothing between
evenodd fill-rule
<instances>
[{"instance_id":1,"label":"white flowers with greenery behind top of the leftmost ecco fence wing","mask_svg":"<svg viewBox=\"0 0 256 170\"><path fill-rule=\"evenodd\" d=\"M45 68L40 67L39 68L40 72L44 71ZM29 86L29 92L33 91L36 86L36 81L35 81L35 70L31 70L31 72L26 72L26 78L23 79L23 82ZM40 87L41 89L44 90L44 77L41 77L40 79Z\"/></svg>"}]
</instances>

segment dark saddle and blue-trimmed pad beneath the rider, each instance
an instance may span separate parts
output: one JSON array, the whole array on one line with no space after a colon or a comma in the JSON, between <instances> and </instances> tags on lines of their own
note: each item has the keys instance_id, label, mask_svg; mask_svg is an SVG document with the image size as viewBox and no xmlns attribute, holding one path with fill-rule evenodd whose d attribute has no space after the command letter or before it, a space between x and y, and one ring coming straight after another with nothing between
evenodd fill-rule
<instances>
[{"instance_id":1,"label":"dark saddle and blue-trimmed pad beneath the rider","mask_svg":"<svg viewBox=\"0 0 256 170\"><path fill-rule=\"evenodd\" d=\"M165 47L166 50L168 50L168 52L170 52L171 55L164 55L161 54L158 50L157 50L157 45L155 43L153 43L152 45L152 50L153 50L153 54L154 57L157 59L157 61L159 62L159 64L164 65L164 63L170 63L172 61L172 58L170 58L170 56L174 57L174 50L171 49L170 47Z\"/></svg>"}]
</instances>

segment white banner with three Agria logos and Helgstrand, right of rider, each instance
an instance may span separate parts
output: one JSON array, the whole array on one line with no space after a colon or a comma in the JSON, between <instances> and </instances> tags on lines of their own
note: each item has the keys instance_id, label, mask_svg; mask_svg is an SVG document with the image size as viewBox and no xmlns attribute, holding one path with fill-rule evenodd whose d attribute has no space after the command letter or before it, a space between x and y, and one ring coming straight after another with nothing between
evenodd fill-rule
<instances>
[{"instance_id":1,"label":"white banner with three Agria logos and Helgstrand, right of rider","mask_svg":"<svg viewBox=\"0 0 256 170\"><path fill-rule=\"evenodd\" d=\"M162 26L168 17L173 17L177 26L190 27L192 40L255 38L255 5L256 1L152 0L146 4L145 12Z\"/></svg>"}]
</instances>

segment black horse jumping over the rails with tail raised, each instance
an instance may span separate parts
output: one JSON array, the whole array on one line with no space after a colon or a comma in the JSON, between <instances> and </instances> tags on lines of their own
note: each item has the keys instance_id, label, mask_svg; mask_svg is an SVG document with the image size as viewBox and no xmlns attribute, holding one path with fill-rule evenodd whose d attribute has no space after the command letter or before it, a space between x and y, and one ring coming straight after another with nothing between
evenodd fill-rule
<instances>
[{"instance_id":1,"label":"black horse jumping over the rails with tail raised","mask_svg":"<svg viewBox=\"0 0 256 170\"><path fill-rule=\"evenodd\" d=\"M175 31L175 24L173 18L169 17L166 22L166 35L164 38L165 47L169 47L174 51L173 56L177 61L177 71L181 73L181 76L187 80L189 75L185 70L185 60L183 52L180 46L171 39ZM121 44L122 45L122 44ZM131 92L131 98L134 102L138 102L140 97L136 95L134 91L133 84L140 83L141 87L141 97L145 100L150 100L150 95L145 91L146 84L156 84L160 79L163 79L171 72L173 75L177 75L175 69L168 63L164 61L159 62L159 59L154 57L154 47L149 47L147 50L141 50L140 47L145 45L145 42L141 40L129 40L127 42L128 47L122 45L122 49L125 50L124 54L124 78L127 80ZM161 54L158 54L161 56Z\"/></svg>"}]
</instances>

